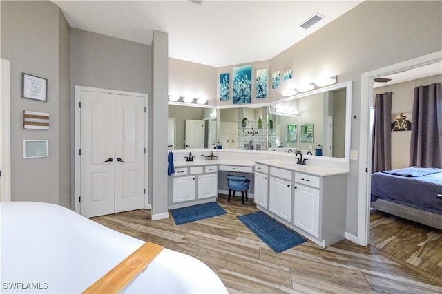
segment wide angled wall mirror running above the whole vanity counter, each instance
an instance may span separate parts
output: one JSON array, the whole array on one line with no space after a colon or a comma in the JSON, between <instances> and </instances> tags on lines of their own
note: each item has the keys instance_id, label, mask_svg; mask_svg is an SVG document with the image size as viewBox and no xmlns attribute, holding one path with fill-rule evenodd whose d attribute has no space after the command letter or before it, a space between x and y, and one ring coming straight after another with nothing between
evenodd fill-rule
<instances>
[{"instance_id":1,"label":"wide angled wall mirror running above the whole vanity counter","mask_svg":"<svg viewBox=\"0 0 442 294\"><path fill-rule=\"evenodd\" d=\"M300 149L302 153L349 160L351 86L351 82L340 83L243 107L169 104L169 121L175 124L175 135L169 137L175 138L174 149L216 145L223 149Z\"/></svg>"}]
</instances>

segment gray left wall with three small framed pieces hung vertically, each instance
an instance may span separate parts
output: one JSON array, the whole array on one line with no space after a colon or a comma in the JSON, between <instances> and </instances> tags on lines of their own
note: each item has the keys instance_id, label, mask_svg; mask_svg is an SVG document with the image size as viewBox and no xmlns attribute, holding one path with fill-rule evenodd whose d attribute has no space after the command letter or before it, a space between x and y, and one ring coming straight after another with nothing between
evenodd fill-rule
<instances>
[{"instance_id":1,"label":"gray left wall with three small framed pieces hung vertically","mask_svg":"<svg viewBox=\"0 0 442 294\"><path fill-rule=\"evenodd\" d=\"M69 28L50 1L1 1L1 58L10 61L11 197L70 207ZM48 79L48 101L21 98L21 73ZM48 130L23 129L23 110L48 112ZM49 156L23 159L23 140Z\"/></svg>"}]
</instances>

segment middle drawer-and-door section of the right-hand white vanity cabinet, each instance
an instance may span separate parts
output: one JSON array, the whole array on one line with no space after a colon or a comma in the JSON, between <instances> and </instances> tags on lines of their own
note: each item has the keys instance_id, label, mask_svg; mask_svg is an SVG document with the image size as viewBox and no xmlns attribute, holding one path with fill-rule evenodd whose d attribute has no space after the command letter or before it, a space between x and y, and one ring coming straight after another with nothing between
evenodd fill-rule
<instances>
[{"instance_id":1,"label":"middle drawer-and-door section of the right-hand white vanity cabinet","mask_svg":"<svg viewBox=\"0 0 442 294\"><path fill-rule=\"evenodd\" d=\"M269 211L291 222L291 171L270 167Z\"/></svg>"}]
</instances>

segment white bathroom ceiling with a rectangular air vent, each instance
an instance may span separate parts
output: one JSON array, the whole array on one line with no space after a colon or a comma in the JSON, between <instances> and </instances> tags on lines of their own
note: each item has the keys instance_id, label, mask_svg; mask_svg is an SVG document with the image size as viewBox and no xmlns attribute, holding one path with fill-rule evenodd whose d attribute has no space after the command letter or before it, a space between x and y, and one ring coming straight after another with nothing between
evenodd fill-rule
<instances>
[{"instance_id":1,"label":"white bathroom ceiling with a rectangular air vent","mask_svg":"<svg viewBox=\"0 0 442 294\"><path fill-rule=\"evenodd\" d=\"M269 60L362 1L52 1L72 28L151 45L169 35L169 57L215 67ZM299 25L319 13L308 30Z\"/></svg>"}]
</instances>

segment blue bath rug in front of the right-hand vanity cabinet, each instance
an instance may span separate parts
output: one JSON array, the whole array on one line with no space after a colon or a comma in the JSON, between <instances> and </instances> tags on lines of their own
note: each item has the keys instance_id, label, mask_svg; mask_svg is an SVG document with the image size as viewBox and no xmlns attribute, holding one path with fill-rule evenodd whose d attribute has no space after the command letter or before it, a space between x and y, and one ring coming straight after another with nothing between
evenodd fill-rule
<instances>
[{"instance_id":1,"label":"blue bath rug in front of the right-hand vanity cabinet","mask_svg":"<svg viewBox=\"0 0 442 294\"><path fill-rule=\"evenodd\" d=\"M275 253L281 253L306 241L300 235L285 227L284 224L273 220L262 211L237 216L237 218Z\"/></svg>"}]
</instances>

